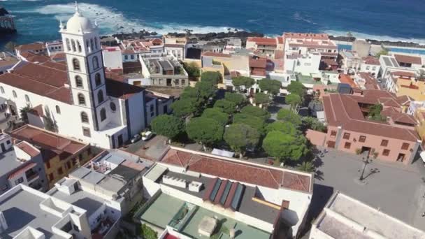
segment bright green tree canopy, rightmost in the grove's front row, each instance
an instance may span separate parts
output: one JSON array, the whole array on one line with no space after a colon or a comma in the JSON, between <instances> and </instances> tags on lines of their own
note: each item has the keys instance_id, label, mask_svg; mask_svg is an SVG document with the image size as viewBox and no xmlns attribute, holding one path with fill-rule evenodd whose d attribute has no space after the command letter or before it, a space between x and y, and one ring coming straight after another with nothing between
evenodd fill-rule
<instances>
[{"instance_id":1,"label":"bright green tree canopy, rightmost in the grove's front row","mask_svg":"<svg viewBox=\"0 0 425 239\"><path fill-rule=\"evenodd\" d=\"M271 131L263 140L263 149L280 161L298 161L308 153L307 139L303 135Z\"/></svg>"}]
</instances>

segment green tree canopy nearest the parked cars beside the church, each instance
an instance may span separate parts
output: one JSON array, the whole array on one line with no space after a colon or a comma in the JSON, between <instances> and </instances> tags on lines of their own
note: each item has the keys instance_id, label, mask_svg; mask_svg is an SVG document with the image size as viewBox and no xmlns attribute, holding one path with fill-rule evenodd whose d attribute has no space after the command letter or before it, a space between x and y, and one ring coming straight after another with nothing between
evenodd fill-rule
<instances>
[{"instance_id":1,"label":"green tree canopy nearest the parked cars beside the church","mask_svg":"<svg viewBox=\"0 0 425 239\"><path fill-rule=\"evenodd\" d=\"M173 115L159 115L152 120L150 125L152 131L169 139L174 139L185 131L185 122Z\"/></svg>"}]
</instances>

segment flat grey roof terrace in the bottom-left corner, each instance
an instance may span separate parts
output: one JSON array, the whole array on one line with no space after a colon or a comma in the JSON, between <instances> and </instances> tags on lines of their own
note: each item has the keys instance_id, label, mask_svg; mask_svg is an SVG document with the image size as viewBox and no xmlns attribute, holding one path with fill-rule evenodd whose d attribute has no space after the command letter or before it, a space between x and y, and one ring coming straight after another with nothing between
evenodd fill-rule
<instances>
[{"instance_id":1,"label":"flat grey roof terrace in the bottom-left corner","mask_svg":"<svg viewBox=\"0 0 425 239\"><path fill-rule=\"evenodd\" d=\"M45 238L58 238L52 233L52 226L59 221L59 217L41 210L40 203L45 198L29 191L19 189L15 193L0 201L0 211L8 224L8 229L0 233L0 238L11 239L27 226L41 231Z\"/></svg>"}]
</instances>

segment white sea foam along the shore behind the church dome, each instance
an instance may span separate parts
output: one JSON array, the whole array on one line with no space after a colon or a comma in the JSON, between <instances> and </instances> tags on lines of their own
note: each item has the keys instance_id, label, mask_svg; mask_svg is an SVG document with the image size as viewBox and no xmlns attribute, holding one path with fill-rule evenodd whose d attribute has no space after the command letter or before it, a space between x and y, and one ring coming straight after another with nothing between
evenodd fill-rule
<instances>
[{"instance_id":1,"label":"white sea foam along the shore behind the church dome","mask_svg":"<svg viewBox=\"0 0 425 239\"><path fill-rule=\"evenodd\" d=\"M212 26L196 26L189 24L178 24L178 23L153 23L145 24L143 20L129 19L113 8L103 7L91 3L78 3L80 12L92 19L96 20L99 27L106 34L115 34L117 32L131 32L141 31L156 31L159 34L167 34L168 32L184 32L185 29L193 30L193 33L208 33L208 32L227 32L228 29L235 29L234 27L212 27ZM54 15L59 21L66 21L75 12L75 6L73 3L69 4L50 4L41 8L35 8L31 10L22 10L21 13L40 13L43 15ZM240 29L238 29L240 30Z\"/></svg>"}]
</instances>

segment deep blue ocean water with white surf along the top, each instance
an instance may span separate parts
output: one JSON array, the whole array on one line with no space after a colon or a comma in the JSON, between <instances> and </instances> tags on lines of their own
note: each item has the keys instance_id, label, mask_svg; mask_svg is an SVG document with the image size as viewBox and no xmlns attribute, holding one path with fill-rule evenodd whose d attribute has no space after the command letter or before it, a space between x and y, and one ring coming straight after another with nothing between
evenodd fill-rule
<instances>
[{"instance_id":1,"label":"deep blue ocean water with white surf along the top","mask_svg":"<svg viewBox=\"0 0 425 239\"><path fill-rule=\"evenodd\" d=\"M59 38L59 20L74 12L73 1L0 0L15 16L18 34L0 36L30 43ZM425 44L425 0L88 0L80 11L97 20L102 34L145 29L166 34L243 29L269 36L284 31L326 32L359 38Z\"/></svg>"}]
</instances>

